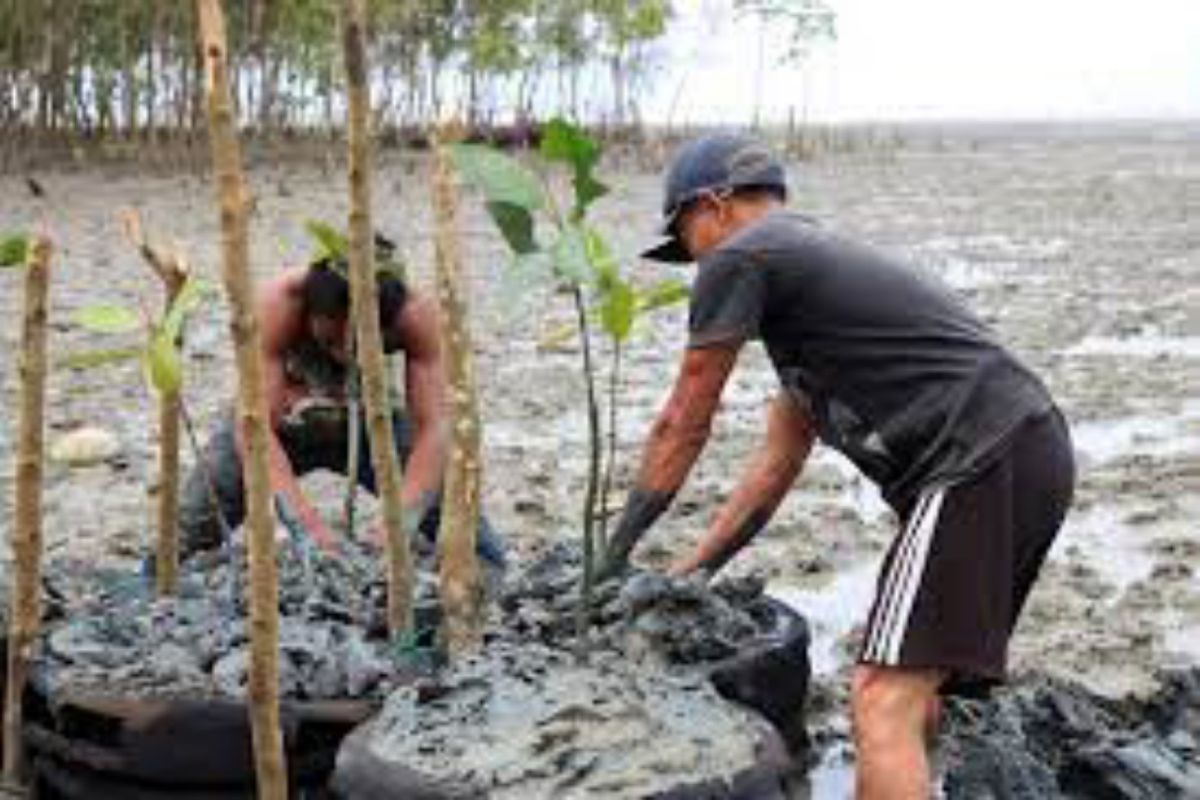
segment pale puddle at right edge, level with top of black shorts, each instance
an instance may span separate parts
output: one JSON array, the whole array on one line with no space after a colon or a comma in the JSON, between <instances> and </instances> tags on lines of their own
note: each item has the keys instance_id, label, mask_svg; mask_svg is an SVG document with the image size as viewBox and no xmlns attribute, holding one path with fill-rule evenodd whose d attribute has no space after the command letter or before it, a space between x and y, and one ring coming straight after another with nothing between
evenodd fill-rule
<instances>
[{"instance_id":1,"label":"pale puddle at right edge, level with top of black shorts","mask_svg":"<svg viewBox=\"0 0 1200 800\"><path fill-rule=\"evenodd\" d=\"M1184 408L1177 416L1136 415L1076 422L1070 435L1090 467L1127 455L1177 456L1200 450L1200 413Z\"/></svg>"}]
</instances>

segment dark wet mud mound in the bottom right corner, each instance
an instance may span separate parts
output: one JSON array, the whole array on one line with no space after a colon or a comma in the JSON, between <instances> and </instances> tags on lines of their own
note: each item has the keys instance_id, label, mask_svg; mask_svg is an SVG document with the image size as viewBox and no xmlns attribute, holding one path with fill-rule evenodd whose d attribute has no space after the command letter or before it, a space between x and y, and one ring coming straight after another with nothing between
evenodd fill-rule
<instances>
[{"instance_id":1,"label":"dark wet mud mound in the bottom right corner","mask_svg":"<svg viewBox=\"0 0 1200 800\"><path fill-rule=\"evenodd\" d=\"M1200 798L1200 669L1164 675L1148 700L1044 676L953 700L942 753L950 799Z\"/></svg>"}]
</instances>

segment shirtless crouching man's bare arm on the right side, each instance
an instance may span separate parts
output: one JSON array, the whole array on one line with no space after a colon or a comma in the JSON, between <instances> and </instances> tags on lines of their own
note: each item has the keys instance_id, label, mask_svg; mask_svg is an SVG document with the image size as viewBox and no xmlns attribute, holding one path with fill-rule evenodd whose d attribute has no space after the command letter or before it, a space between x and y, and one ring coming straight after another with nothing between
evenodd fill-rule
<instances>
[{"instance_id":1,"label":"shirtless crouching man's bare arm on the right side","mask_svg":"<svg viewBox=\"0 0 1200 800\"><path fill-rule=\"evenodd\" d=\"M445 464L446 374L437 307L428 299L413 296L404 303L396 325L404 342L404 396L413 425L413 450L401 492L404 507L418 510L442 488Z\"/></svg>"}]
</instances>

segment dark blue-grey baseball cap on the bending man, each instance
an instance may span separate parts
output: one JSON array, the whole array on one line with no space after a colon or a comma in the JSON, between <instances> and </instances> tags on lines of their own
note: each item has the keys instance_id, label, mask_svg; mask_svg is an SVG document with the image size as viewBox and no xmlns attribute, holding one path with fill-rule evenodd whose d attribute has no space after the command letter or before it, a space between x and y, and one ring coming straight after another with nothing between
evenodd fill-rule
<instances>
[{"instance_id":1,"label":"dark blue-grey baseball cap on the bending man","mask_svg":"<svg viewBox=\"0 0 1200 800\"><path fill-rule=\"evenodd\" d=\"M644 251L642 258L677 264L694 260L676 230L680 211L706 192L750 186L787 197L784 164L763 143L740 133L712 133L684 144L671 162L662 196L659 233L667 239Z\"/></svg>"}]
</instances>

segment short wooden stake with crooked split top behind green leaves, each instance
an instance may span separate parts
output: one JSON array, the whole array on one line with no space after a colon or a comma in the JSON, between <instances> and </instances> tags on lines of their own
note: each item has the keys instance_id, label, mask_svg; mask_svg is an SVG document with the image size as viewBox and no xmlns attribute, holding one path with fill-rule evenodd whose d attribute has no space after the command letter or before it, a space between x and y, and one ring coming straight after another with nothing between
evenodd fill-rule
<instances>
[{"instance_id":1,"label":"short wooden stake with crooked split top behind green leaves","mask_svg":"<svg viewBox=\"0 0 1200 800\"><path fill-rule=\"evenodd\" d=\"M179 253L152 247L142 233L142 218L130 209L121 215L125 237L158 276L163 288L163 314L187 283L187 264ZM179 585L179 392L158 395L158 540L155 547L155 590L160 597Z\"/></svg>"}]
</instances>

